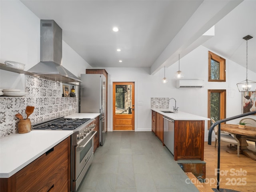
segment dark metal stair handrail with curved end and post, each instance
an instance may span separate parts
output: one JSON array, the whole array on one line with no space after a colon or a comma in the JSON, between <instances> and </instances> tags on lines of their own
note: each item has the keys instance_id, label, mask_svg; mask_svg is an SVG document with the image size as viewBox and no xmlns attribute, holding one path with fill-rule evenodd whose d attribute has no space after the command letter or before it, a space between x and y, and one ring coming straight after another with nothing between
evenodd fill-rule
<instances>
[{"instance_id":1,"label":"dark metal stair handrail with curved end and post","mask_svg":"<svg viewBox=\"0 0 256 192\"><path fill-rule=\"evenodd\" d=\"M219 125L218 126L218 138L219 138L218 139L218 169L217 169L217 190L216 191L220 191L220 124L223 123L223 122L227 122L227 121L230 121L230 120L233 120L233 119L237 119L237 118L240 118L240 117L245 117L245 116L252 115L252 114L256 114L256 110L216 121L214 124L212 124L212 126L209 129L208 145L212 145L212 131L213 131L215 126Z\"/></svg>"}]
</instances>

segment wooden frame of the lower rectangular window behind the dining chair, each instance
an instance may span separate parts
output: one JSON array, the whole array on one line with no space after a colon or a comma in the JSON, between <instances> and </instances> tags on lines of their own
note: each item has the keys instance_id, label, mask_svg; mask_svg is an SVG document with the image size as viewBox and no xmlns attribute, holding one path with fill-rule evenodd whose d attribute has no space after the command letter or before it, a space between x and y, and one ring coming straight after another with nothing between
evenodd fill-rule
<instances>
[{"instance_id":1,"label":"wooden frame of the lower rectangular window behind the dining chair","mask_svg":"<svg viewBox=\"0 0 256 192\"><path fill-rule=\"evenodd\" d=\"M225 89L208 89L208 118L211 118L211 93L220 93L220 119L226 118L226 90ZM224 122L225 124L226 122ZM208 121L208 130L211 121Z\"/></svg>"}]
</instances>

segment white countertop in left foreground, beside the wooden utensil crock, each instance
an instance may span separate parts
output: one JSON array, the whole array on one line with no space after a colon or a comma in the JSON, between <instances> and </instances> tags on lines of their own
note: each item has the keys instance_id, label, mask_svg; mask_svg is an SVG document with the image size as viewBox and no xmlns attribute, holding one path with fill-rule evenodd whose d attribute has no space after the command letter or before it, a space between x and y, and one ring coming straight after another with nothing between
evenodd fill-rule
<instances>
[{"instance_id":1,"label":"white countertop in left foreground, beside the wooden utensil crock","mask_svg":"<svg viewBox=\"0 0 256 192\"><path fill-rule=\"evenodd\" d=\"M0 139L0 178L9 178L68 138L73 130L32 130Z\"/></svg>"}]
</instances>

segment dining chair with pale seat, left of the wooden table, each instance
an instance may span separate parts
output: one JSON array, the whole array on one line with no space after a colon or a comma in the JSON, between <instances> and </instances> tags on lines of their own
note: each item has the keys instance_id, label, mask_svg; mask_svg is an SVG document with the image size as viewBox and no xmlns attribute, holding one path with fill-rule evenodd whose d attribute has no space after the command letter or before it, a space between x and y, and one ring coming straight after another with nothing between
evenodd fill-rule
<instances>
[{"instance_id":1,"label":"dining chair with pale seat, left of the wooden table","mask_svg":"<svg viewBox=\"0 0 256 192\"><path fill-rule=\"evenodd\" d=\"M215 121L211 118L212 123L215 123ZM215 133L215 145L214 147L216 148L216 144L218 141L218 127L215 126L214 127L214 133ZM239 149L240 149L240 142L238 141L237 138L234 138L234 136L232 136L233 134L229 133L229 132L224 132L221 131L220 132L220 141L224 141L224 142L228 142L230 143L230 148L232 148L232 144L237 145L237 156L239 157Z\"/></svg>"}]
</instances>

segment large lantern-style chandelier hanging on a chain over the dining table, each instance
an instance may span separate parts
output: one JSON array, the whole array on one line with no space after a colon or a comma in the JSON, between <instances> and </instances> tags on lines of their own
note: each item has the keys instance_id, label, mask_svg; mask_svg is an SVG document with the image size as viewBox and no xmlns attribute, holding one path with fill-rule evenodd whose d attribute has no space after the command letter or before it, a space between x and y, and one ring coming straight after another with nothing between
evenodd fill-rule
<instances>
[{"instance_id":1,"label":"large lantern-style chandelier hanging on a chain over the dining table","mask_svg":"<svg viewBox=\"0 0 256 192\"><path fill-rule=\"evenodd\" d=\"M239 92L247 92L247 91L256 91L256 82L250 81L247 79L248 76L248 40L251 39L252 36L245 36L243 39L246 40L246 80L236 84Z\"/></svg>"}]
</instances>

